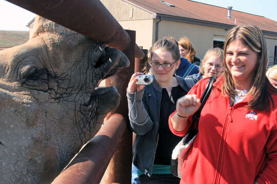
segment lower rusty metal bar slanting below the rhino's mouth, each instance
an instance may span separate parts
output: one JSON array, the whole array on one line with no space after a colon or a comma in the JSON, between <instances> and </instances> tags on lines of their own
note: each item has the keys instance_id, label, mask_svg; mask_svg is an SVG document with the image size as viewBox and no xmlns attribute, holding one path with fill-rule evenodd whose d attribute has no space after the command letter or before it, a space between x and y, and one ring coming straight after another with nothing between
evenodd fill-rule
<instances>
[{"instance_id":1,"label":"lower rusty metal bar slanting below the rhino's mouth","mask_svg":"<svg viewBox=\"0 0 277 184\"><path fill-rule=\"evenodd\" d=\"M126 121L123 116L113 114L52 184L100 183L125 130Z\"/></svg>"}]
</instances>

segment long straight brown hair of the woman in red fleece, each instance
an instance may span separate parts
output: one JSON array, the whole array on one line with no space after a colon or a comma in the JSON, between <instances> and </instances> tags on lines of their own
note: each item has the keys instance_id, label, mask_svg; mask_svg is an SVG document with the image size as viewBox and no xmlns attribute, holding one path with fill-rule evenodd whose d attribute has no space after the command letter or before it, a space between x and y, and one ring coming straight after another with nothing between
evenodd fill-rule
<instances>
[{"instance_id":1,"label":"long straight brown hair of the woman in red fleece","mask_svg":"<svg viewBox=\"0 0 277 184\"><path fill-rule=\"evenodd\" d=\"M222 93L229 96L233 101L235 91L233 78L226 64L226 50L229 43L235 39L242 40L249 48L258 54L258 61L254 68L254 77L252 78L252 86L247 95L251 95L252 99L248 102L248 109L269 110L270 101L273 100L269 93L268 83L266 78L266 68L268 64L267 48L265 38L260 28L256 26L236 26L227 33L224 44L224 81L222 85ZM275 91L275 90L274 90Z\"/></svg>"}]
</instances>

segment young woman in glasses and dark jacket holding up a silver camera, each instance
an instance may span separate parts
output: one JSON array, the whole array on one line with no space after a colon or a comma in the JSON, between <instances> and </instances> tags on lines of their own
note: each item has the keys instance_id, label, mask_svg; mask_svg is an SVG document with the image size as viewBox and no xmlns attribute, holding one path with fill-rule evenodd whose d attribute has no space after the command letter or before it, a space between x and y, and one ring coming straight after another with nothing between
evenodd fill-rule
<instances>
[{"instance_id":1,"label":"young woman in glasses and dark jacket holding up a silver camera","mask_svg":"<svg viewBox=\"0 0 277 184\"><path fill-rule=\"evenodd\" d=\"M128 88L129 119L136 133L133 164L138 180L143 183L179 183L180 178L170 172L174 146L182 137L172 134L168 117L176 108L176 101L187 94L186 79L175 75L180 64L178 43L173 37L156 41L149 53L153 82L136 85L132 75Z\"/></svg>"}]
</instances>

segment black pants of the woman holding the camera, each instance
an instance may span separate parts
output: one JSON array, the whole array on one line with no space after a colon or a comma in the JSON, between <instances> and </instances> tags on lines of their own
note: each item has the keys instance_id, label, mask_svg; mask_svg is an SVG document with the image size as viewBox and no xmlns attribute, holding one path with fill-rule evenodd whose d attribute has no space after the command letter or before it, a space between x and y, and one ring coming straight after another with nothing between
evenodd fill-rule
<instances>
[{"instance_id":1,"label":"black pants of the woman holding the camera","mask_svg":"<svg viewBox=\"0 0 277 184\"><path fill-rule=\"evenodd\" d=\"M179 184L180 178L172 174L152 174L148 177L145 174L138 176L140 184Z\"/></svg>"}]
</instances>

